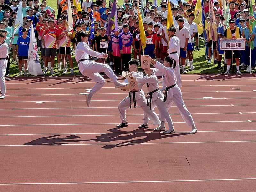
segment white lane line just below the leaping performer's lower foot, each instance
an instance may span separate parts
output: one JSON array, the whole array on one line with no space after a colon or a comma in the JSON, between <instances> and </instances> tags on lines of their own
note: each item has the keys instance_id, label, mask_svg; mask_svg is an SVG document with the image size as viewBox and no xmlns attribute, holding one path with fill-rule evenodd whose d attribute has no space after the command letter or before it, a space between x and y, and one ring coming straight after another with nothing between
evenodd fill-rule
<instances>
[{"instance_id":1,"label":"white lane line just below the leaping performer's lower foot","mask_svg":"<svg viewBox=\"0 0 256 192\"><path fill-rule=\"evenodd\" d=\"M186 107L224 107L224 106L255 106L256 104L244 104L244 105L186 105ZM171 106L171 107L176 107L176 106ZM0 110L29 110L29 109L97 109L97 108L117 108L117 107L63 107L63 108L10 108L10 109L1 109ZM137 108L140 108L138 106Z\"/></svg>"}]
</instances>

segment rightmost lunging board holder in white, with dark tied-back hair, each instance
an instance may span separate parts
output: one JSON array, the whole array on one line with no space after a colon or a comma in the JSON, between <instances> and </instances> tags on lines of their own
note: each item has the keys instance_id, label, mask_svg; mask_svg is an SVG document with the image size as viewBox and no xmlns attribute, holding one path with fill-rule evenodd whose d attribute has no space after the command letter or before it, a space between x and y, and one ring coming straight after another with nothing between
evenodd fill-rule
<instances>
[{"instance_id":1,"label":"rightmost lunging board holder in white, with dark tied-back hair","mask_svg":"<svg viewBox=\"0 0 256 192\"><path fill-rule=\"evenodd\" d=\"M154 64L154 67L156 67L156 69L153 69L154 74L156 76L164 75L163 81L166 84L166 89L164 94L164 107L166 108L167 111L169 111L172 104L175 103L178 110L180 111L180 115L182 116L183 120L186 122L188 126L192 127L192 131L190 132L190 134L196 133L197 128L195 126L194 120L191 114L189 113L188 109L186 108L184 100L182 99L180 87L176 85L175 75L174 75L176 61L168 56L164 59L164 65L153 59L151 59L151 62ZM162 126L163 126L163 122L162 122ZM164 133L171 133L172 131L174 131L174 129L173 130L169 129L167 131L164 131Z\"/></svg>"}]
</instances>

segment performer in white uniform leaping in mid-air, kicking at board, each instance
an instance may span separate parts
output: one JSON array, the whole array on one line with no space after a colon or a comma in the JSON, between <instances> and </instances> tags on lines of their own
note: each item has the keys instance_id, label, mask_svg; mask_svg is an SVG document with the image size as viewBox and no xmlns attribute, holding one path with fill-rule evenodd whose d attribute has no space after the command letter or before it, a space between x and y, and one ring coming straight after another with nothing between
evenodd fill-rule
<instances>
[{"instance_id":1,"label":"performer in white uniform leaping in mid-air, kicking at board","mask_svg":"<svg viewBox=\"0 0 256 192\"><path fill-rule=\"evenodd\" d=\"M96 82L96 84L92 87L92 91L89 94L85 94L86 104L89 107L92 95L98 92L106 83L105 79L100 76L99 73L105 72L111 81L114 82L116 88L124 87L127 84L117 81L117 76L115 76L113 70L107 64L89 60L89 55L97 58L107 58L108 54L92 51L92 49L87 44L87 32L79 31L77 33L76 39L78 43L76 45L76 62L78 63L78 68L84 76L87 76Z\"/></svg>"}]
</instances>

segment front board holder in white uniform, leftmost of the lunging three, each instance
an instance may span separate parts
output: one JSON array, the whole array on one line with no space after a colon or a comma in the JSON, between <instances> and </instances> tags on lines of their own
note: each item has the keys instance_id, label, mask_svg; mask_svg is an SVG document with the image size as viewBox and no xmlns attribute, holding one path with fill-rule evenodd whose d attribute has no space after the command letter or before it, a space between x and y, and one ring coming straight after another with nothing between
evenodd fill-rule
<instances>
[{"instance_id":1,"label":"front board holder in white uniform, leftmost of the lunging three","mask_svg":"<svg viewBox=\"0 0 256 192\"><path fill-rule=\"evenodd\" d=\"M138 66L139 62L137 60L131 60L129 61L129 71L128 76L132 77L143 77L142 72L138 72ZM129 78L129 77L128 77ZM128 83L128 79L124 80L124 83ZM116 127L127 127L128 123L126 121L126 109L129 107L131 108L131 105L133 103L134 108L136 108L136 103L140 106L140 108L144 111L144 114L147 114L147 116L150 118L153 125L160 125L161 121L159 120L158 116L153 110L150 110L149 106L147 106L147 100L145 98L143 90L141 90L143 84L138 84L138 87L140 91L138 92L129 92L129 96L125 97L124 100L122 100L118 105L118 110L121 118L121 123L117 125ZM123 89L122 89L123 90ZM125 90L123 90L125 91ZM133 95L135 96L133 98ZM148 122L140 125L139 128L148 128Z\"/></svg>"}]
</instances>

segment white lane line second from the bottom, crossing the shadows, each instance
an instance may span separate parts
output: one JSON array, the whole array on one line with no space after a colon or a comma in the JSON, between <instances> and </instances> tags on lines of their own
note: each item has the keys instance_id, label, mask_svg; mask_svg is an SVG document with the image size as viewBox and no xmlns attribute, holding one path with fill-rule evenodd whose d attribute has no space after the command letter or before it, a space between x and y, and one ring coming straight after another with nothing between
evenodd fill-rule
<instances>
[{"instance_id":1,"label":"white lane line second from the bottom, crossing the shadows","mask_svg":"<svg viewBox=\"0 0 256 192\"><path fill-rule=\"evenodd\" d=\"M65 141L65 140L63 140ZM68 141L67 141L68 142ZM83 142L83 141L80 141ZM159 142L159 143L122 143L122 145L137 145L137 144L188 144L188 143L243 143L243 142L256 142L256 141L195 141L195 142ZM0 147L27 147L27 146L68 146L68 145L119 145L120 143L77 143L77 144L65 144L65 145L0 145ZM119 146L122 146L119 145Z\"/></svg>"}]
</instances>

